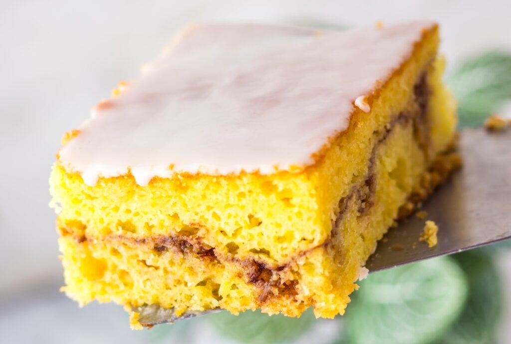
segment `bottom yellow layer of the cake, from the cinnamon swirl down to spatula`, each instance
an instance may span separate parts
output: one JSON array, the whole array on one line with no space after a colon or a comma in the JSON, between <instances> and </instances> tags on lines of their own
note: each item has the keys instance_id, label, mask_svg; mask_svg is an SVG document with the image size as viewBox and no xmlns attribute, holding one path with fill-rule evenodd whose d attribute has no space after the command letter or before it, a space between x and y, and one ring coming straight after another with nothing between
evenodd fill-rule
<instances>
[{"instance_id":1,"label":"bottom yellow layer of the cake, from the cinnamon swirl down to spatula","mask_svg":"<svg viewBox=\"0 0 511 344\"><path fill-rule=\"evenodd\" d=\"M320 317L343 314L361 266L410 195L424 198L429 185L449 174L457 159L437 157L439 173L426 172L424 147L413 118L397 118L380 133L369 173L340 200L329 240L268 268L255 260L221 256L194 237L73 237L61 228L63 289L81 304L92 300L129 307L157 304L176 313L221 307L232 313L261 308L299 316L309 307ZM426 187L426 188L425 188ZM132 313L132 324L137 314Z\"/></svg>"}]
</instances>

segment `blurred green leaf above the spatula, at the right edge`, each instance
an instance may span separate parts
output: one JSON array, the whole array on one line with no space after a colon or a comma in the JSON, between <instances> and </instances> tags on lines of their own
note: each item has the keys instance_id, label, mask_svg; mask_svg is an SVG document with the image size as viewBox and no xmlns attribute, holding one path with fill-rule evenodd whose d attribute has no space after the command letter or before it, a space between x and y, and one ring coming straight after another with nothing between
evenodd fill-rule
<instances>
[{"instance_id":1,"label":"blurred green leaf above the spatula, at the right edge","mask_svg":"<svg viewBox=\"0 0 511 344\"><path fill-rule=\"evenodd\" d=\"M446 77L458 99L461 127L477 127L511 99L511 54L489 51L462 62Z\"/></svg>"}]
</instances>

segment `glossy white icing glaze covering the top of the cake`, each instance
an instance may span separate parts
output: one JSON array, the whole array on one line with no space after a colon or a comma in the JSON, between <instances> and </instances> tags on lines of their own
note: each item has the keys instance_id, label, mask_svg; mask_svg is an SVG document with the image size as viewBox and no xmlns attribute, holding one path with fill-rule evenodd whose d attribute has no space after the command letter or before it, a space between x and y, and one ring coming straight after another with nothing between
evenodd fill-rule
<instances>
[{"instance_id":1,"label":"glossy white icing glaze covering the top of the cake","mask_svg":"<svg viewBox=\"0 0 511 344\"><path fill-rule=\"evenodd\" d=\"M433 26L190 27L92 110L60 163L88 185L128 172L145 185L174 172L299 171L354 111L370 111L375 80L384 83Z\"/></svg>"}]
</instances>

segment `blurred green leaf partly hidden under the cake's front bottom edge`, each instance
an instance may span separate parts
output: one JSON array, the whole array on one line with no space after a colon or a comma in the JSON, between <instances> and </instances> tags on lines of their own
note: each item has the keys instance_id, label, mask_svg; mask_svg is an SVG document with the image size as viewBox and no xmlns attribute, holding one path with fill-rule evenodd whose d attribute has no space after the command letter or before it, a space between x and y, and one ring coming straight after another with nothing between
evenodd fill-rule
<instances>
[{"instance_id":1,"label":"blurred green leaf partly hidden under the cake's front bottom edge","mask_svg":"<svg viewBox=\"0 0 511 344\"><path fill-rule=\"evenodd\" d=\"M238 316L220 312L208 315L207 320L224 337L242 343L271 344L296 339L311 327L315 318L312 310L299 318L246 311Z\"/></svg>"}]
</instances>

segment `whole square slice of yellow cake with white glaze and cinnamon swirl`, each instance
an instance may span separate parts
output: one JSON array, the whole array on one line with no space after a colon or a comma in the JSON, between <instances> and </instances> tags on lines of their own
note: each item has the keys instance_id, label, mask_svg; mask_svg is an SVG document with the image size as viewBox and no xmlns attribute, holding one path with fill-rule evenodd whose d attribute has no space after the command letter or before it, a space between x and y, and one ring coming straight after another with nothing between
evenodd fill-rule
<instances>
[{"instance_id":1,"label":"whole square slice of yellow cake with white glaze and cinnamon swirl","mask_svg":"<svg viewBox=\"0 0 511 344\"><path fill-rule=\"evenodd\" d=\"M64 138L63 290L178 315L344 313L452 141L438 42L425 21L188 27Z\"/></svg>"}]
</instances>

